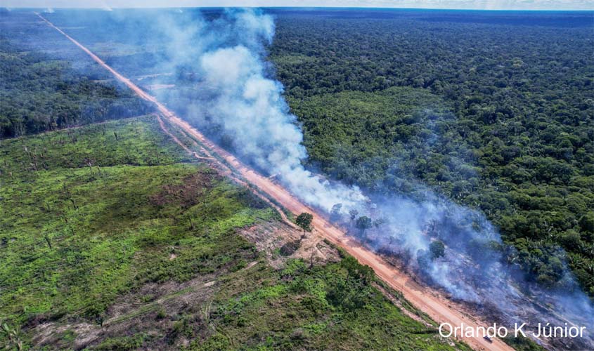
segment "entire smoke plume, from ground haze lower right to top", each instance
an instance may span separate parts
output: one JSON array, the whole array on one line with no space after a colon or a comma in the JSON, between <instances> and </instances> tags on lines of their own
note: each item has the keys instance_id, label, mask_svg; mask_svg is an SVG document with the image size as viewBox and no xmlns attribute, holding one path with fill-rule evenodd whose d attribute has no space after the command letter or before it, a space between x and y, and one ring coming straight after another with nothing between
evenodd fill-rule
<instances>
[{"instance_id":1,"label":"entire smoke plume, from ground haze lower right to top","mask_svg":"<svg viewBox=\"0 0 594 351\"><path fill-rule=\"evenodd\" d=\"M264 60L265 45L274 34L271 16L253 10L226 11L209 20L184 15L163 15L157 22L167 39L168 56L160 70L195 81L195 90L183 92L186 98L191 95L183 117L207 128L238 157L349 227L349 233L366 245L399 257L408 269L453 298L495 310L511 324L522 322L524 314L557 325L566 320L594 324L593 306L562 260L553 265L562 289L528 282L526 273L514 265L518 253L503 244L482 213L422 185L423 200L365 194L359 187L306 169L297 117ZM360 220L363 217L369 220ZM553 306L554 312L545 311L545 306Z\"/></svg>"}]
</instances>

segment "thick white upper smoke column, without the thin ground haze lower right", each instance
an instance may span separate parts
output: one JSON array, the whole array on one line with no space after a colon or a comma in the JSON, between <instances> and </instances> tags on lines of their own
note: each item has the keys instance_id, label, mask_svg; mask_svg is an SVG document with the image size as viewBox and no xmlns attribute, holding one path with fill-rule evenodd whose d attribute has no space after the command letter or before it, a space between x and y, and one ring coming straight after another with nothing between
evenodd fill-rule
<instances>
[{"instance_id":1,"label":"thick white upper smoke column, without the thin ground haze lower right","mask_svg":"<svg viewBox=\"0 0 594 351\"><path fill-rule=\"evenodd\" d=\"M201 95L193 103L190 119L219 124L231 137L234 152L244 161L274 175L306 204L330 211L362 207L367 199L358 187L347 187L316 176L302 166L307 152L297 117L283 99L283 86L269 78L262 60L264 43L270 43L274 21L254 10L226 11L224 18L160 18L166 29L170 67L191 67L198 72Z\"/></svg>"}]
</instances>

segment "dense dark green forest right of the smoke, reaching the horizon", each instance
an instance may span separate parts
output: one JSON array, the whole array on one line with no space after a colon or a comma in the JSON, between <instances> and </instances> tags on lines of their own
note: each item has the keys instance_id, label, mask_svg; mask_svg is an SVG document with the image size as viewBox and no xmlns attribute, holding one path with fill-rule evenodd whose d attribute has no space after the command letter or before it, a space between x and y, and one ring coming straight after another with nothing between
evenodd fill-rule
<instances>
[{"instance_id":1,"label":"dense dark green forest right of the smoke, reaching the horizon","mask_svg":"<svg viewBox=\"0 0 594 351\"><path fill-rule=\"evenodd\" d=\"M594 296L591 23L322 12L280 12L269 48L310 165L429 185L483 211L529 277L554 286L561 256Z\"/></svg>"}]
</instances>

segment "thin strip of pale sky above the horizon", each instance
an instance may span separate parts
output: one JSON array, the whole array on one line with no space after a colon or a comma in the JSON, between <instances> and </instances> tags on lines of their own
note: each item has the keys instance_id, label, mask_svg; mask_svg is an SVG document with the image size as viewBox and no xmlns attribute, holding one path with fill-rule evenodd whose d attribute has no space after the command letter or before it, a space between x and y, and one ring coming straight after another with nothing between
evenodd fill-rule
<instances>
[{"instance_id":1,"label":"thin strip of pale sky above the horizon","mask_svg":"<svg viewBox=\"0 0 594 351\"><path fill-rule=\"evenodd\" d=\"M0 0L8 8L385 7L478 10L594 10L594 0Z\"/></svg>"}]
</instances>

